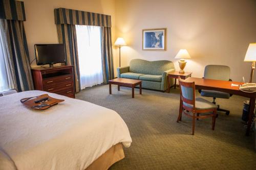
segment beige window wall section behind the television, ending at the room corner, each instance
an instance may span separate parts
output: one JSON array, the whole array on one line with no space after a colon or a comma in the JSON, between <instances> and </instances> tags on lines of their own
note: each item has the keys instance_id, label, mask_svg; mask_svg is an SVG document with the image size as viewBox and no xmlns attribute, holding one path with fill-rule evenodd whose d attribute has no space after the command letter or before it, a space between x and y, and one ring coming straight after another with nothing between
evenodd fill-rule
<instances>
[{"instance_id":1,"label":"beige window wall section behind the television, ending at the room corner","mask_svg":"<svg viewBox=\"0 0 256 170\"><path fill-rule=\"evenodd\" d=\"M24 22L30 58L35 58L34 44L58 43L54 23L54 8L69 8L112 16L112 37L115 40L115 1L114 0L24 0L26 18ZM114 62L117 60L114 59ZM32 66L36 66L33 62Z\"/></svg>"}]
</instances>

